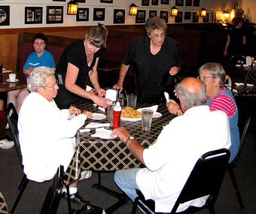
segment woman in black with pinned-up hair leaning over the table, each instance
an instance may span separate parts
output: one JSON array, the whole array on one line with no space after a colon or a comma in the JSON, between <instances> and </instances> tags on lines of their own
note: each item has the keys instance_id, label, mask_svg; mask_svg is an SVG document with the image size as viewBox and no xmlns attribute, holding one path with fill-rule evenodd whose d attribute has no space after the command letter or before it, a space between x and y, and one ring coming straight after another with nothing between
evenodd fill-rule
<instances>
[{"instance_id":1,"label":"woman in black with pinned-up hair leaning over the table","mask_svg":"<svg viewBox=\"0 0 256 214\"><path fill-rule=\"evenodd\" d=\"M101 107L107 107L108 99L102 98L105 90L99 86L97 65L102 47L106 47L108 30L98 24L90 29L84 40L75 41L66 47L56 66L59 92L55 98L59 108L69 108L79 97L88 98ZM96 94L84 89L86 77L96 89Z\"/></svg>"}]
</instances>

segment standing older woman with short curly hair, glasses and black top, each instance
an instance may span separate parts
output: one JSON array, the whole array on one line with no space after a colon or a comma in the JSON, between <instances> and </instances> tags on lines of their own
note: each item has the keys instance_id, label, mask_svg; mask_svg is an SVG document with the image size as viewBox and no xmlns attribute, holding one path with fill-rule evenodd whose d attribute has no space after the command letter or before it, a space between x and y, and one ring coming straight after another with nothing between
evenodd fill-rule
<instances>
[{"instance_id":1,"label":"standing older woman with short curly hair, glasses and black top","mask_svg":"<svg viewBox=\"0 0 256 214\"><path fill-rule=\"evenodd\" d=\"M167 25L160 17L150 17L145 24L146 35L133 41L122 59L115 89L123 89L123 80L133 65L133 89L139 103L166 102L164 91L171 89L171 76L181 67L178 41L166 37Z\"/></svg>"}]
</instances>

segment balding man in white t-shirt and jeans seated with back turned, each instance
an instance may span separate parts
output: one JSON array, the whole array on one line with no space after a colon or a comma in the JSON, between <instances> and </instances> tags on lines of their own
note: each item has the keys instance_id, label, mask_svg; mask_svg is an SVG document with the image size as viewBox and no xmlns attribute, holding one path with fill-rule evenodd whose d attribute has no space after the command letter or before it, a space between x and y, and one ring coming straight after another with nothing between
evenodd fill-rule
<instances>
[{"instance_id":1,"label":"balding man in white t-shirt and jeans seated with back turned","mask_svg":"<svg viewBox=\"0 0 256 214\"><path fill-rule=\"evenodd\" d=\"M156 143L145 149L130 136L126 128L114 129L133 155L145 168L118 170L114 181L132 200L136 188L145 199L155 200L155 212L171 212L184 183L197 162L206 152L230 147L227 115L210 111L206 105L206 86L201 80L187 77L175 87L183 116L172 119L157 137ZM190 201L203 206L207 197ZM179 207L187 209L189 204Z\"/></svg>"}]
</instances>

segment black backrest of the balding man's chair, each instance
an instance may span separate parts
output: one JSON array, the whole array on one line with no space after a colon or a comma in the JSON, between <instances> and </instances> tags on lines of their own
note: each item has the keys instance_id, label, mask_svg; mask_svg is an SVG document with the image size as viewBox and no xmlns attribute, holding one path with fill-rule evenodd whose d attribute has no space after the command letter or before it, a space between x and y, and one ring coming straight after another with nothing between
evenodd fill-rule
<instances>
[{"instance_id":1,"label":"black backrest of the balding man's chair","mask_svg":"<svg viewBox=\"0 0 256 214\"><path fill-rule=\"evenodd\" d=\"M218 149L202 155L191 171L171 213L175 213L180 203L206 195L210 195L206 201L207 204L215 203L229 158L230 152L228 149Z\"/></svg>"}]
</instances>

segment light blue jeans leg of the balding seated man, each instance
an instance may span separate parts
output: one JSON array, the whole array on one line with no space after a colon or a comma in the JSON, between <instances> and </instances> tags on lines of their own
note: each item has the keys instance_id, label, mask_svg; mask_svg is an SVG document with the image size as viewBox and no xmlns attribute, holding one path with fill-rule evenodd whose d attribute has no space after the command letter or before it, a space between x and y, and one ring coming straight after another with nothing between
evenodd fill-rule
<instances>
[{"instance_id":1,"label":"light blue jeans leg of the balding seated man","mask_svg":"<svg viewBox=\"0 0 256 214\"><path fill-rule=\"evenodd\" d=\"M114 182L133 201L138 196L136 194L136 188L139 189L138 185L136 184L136 173L139 170L139 168L117 170L114 173Z\"/></svg>"}]
</instances>

